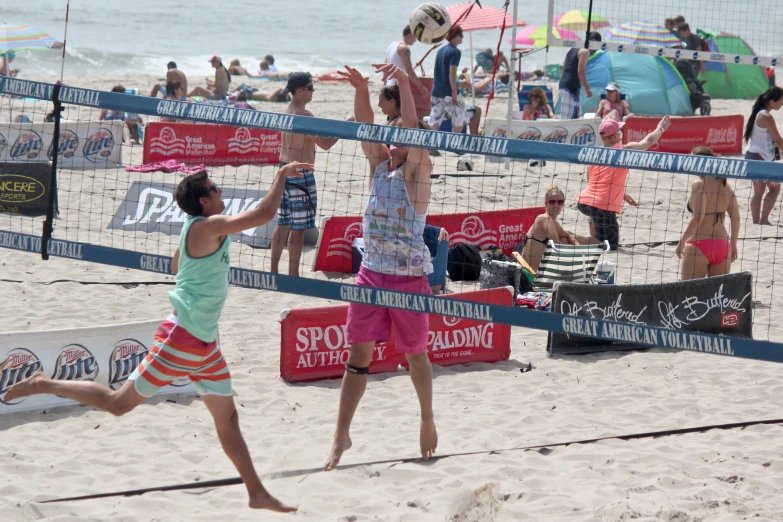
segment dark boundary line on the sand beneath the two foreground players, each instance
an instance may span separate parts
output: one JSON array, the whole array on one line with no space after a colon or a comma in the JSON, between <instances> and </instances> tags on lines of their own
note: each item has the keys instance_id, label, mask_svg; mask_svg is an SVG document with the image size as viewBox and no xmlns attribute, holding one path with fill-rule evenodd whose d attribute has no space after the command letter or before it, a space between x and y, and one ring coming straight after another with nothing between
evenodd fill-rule
<instances>
[{"instance_id":1,"label":"dark boundary line on the sand beneath the two foreground players","mask_svg":"<svg viewBox=\"0 0 783 522\"><path fill-rule=\"evenodd\" d=\"M548 455L551 453L551 451L545 451L548 448L557 448L557 447L566 447L571 446L573 444L594 444L596 442L601 442L605 440L634 440L634 439L649 439L649 438L657 438L657 437L667 437L672 435L685 435L688 433L703 433L710 430L730 430L730 429L737 429L737 428L747 428L749 426L758 426L758 425L764 425L764 424L783 424L783 419L766 419L766 420L755 420L755 421L745 421L745 422L732 422L732 423L726 423L726 424L712 424L708 426L697 426L692 428L678 428L678 429L670 429L670 430L662 430L662 431L648 431L644 433L632 433L630 435L611 435L607 437L598 437L594 439L582 439L582 440L572 440L568 442L555 442L551 444L537 444L534 446L519 446L515 448L504 448L504 449L494 449L494 450L482 450L482 451L468 451L463 453L450 453L447 455L436 455L433 457L430 457L426 461L422 457L409 457L409 458L402 458L402 459L388 459L388 460L374 460L374 461L368 461L368 462L358 462L356 464L344 464L341 466L337 466L335 468L336 470L346 470L346 469L352 469L352 468L359 468L359 467L365 467L365 466L378 466L382 464L406 464L406 463L412 463L412 462L434 462L438 460L448 459L452 457L468 457L472 455L497 455L500 453L505 453L509 451L534 451L537 450L543 455ZM304 469L296 469L296 470L289 470L289 471L278 471L274 473L267 473L261 477L262 480L275 480L275 479L282 479L282 478L291 478L291 477L298 477L302 475L313 475L315 473L322 473L323 468L304 468ZM143 495L145 493L151 493L155 491L179 491L179 490L188 490L188 489L204 489L204 488L214 488L214 487L222 487L222 486L235 486L238 484L242 484L242 479L240 477L234 477L229 479L219 479L219 480L207 480L204 482L189 482L185 484L173 484L170 486L155 486L155 487L149 487L149 488L141 488L141 489L130 489L126 491L115 491L112 493L94 493L92 495L82 495L78 497L67 497L67 498L55 498L50 500L44 500L41 503L42 504L48 504L53 502L70 502L75 500L92 500L92 499L98 499L98 498L109 498L109 497L132 497L137 495Z\"/></svg>"}]
</instances>

